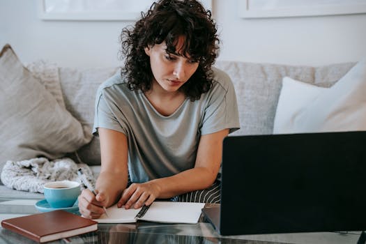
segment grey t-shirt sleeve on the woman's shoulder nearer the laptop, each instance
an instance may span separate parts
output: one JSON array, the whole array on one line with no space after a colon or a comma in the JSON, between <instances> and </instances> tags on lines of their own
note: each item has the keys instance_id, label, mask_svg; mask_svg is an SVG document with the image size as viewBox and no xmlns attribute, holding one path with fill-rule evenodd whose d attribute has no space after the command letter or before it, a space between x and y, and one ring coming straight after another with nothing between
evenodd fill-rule
<instances>
[{"instance_id":1,"label":"grey t-shirt sleeve on the woman's shoulder nearer the laptop","mask_svg":"<svg viewBox=\"0 0 366 244\"><path fill-rule=\"evenodd\" d=\"M224 129L229 129L231 133L240 128L236 94L229 75L216 70L213 82L208 92L201 135Z\"/></svg>"}]
</instances>

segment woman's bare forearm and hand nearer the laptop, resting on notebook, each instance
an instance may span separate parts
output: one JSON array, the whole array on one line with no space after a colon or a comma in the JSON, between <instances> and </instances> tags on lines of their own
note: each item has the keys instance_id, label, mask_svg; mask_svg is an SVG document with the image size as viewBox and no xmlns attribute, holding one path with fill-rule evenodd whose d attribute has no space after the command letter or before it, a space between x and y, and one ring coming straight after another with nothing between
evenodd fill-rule
<instances>
[{"instance_id":1,"label":"woman's bare forearm and hand nearer the laptop, resting on notebook","mask_svg":"<svg viewBox=\"0 0 366 244\"><path fill-rule=\"evenodd\" d=\"M156 198L165 199L208 188L218 175L222 160L222 140L228 134L229 129L225 129L201 136L193 169L146 183L134 183L123 192L119 206L139 208L151 204Z\"/></svg>"}]
</instances>

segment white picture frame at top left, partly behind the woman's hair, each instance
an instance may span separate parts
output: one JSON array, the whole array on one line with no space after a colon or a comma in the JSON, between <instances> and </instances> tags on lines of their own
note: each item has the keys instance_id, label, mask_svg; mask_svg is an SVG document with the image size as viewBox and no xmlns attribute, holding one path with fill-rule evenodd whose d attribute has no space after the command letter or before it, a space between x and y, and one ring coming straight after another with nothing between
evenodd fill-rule
<instances>
[{"instance_id":1,"label":"white picture frame at top left, partly behind the woman's hair","mask_svg":"<svg viewBox=\"0 0 366 244\"><path fill-rule=\"evenodd\" d=\"M200 0L212 9L212 0ZM38 0L41 20L135 21L153 0Z\"/></svg>"}]
</instances>

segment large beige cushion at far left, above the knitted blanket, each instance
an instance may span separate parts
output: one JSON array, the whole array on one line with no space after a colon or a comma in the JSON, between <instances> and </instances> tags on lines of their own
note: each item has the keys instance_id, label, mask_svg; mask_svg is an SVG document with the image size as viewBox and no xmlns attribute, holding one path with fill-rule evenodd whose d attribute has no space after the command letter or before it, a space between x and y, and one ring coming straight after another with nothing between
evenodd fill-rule
<instances>
[{"instance_id":1,"label":"large beige cushion at far left, above the knitted blanket","mask_svg":"<svg viewBox=\"0 0 366 244\"><path fill-rule=\"evenodd\" d=\"M0 167L7 160L61 158L87 144L90 132L22 66L10 45L0 53Z\"/></svg>"}]
</instances>

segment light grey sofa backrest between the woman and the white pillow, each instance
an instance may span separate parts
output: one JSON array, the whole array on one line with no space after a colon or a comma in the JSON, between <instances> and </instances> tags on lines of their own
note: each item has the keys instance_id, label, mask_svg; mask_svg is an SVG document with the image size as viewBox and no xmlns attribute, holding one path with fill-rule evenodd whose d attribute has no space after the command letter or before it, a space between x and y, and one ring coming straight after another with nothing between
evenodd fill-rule
<instances>
[{"instance_id":1,"label":"light grey sofa backrest between the woman and the white pillow","mask_svg":"<svg viewBox=\"0 0 366 244\"><path fill-rule=\"evenodd\" d=\"M354 63L335 63L310 67L218 61L216 66L231 77L238 100L241 129L231 135L273 133L275 111L283 77L329 87L346 74L353 65Z\"/></svg>"}]
</instances>

